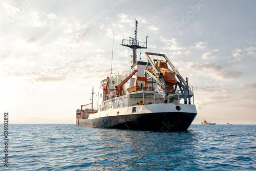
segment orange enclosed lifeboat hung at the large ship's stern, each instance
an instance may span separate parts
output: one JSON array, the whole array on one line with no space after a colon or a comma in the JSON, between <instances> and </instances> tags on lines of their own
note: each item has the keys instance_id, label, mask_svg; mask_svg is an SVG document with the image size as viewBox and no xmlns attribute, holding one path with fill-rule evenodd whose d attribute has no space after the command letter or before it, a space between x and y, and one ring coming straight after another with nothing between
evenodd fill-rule
<instances>
[{"instance_id":1,"label":"orange enclosed lifeboat hung at the large ship's stern","mask_svg":"<svg viewBox=\"0 0 256 171\"><path fill-rule=\"evenodd\" d=\"M163 74L163 80L167 85L167 92L172 91L174 85L177 83L177 79L175 78L175 73L168 68L166 61L157 60L155 63L155 66L157 70ZM150 68L149 70L155 73L153 68Z\"/></svg>"}]
</instances>

